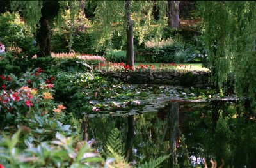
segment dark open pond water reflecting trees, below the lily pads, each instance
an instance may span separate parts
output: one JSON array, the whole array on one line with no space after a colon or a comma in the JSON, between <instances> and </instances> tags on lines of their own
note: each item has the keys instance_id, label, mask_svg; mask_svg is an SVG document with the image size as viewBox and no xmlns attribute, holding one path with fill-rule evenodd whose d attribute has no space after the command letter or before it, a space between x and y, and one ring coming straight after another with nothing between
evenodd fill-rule
<instances>
[{"instance_id":1,"label":"dark open pond water reflecting trees, below the lily pads","mask_svg":"<svg viewBox=\"0 0 256 168\"><path fill-rule=\"evenodd\" d=\"M256 167L254 112L236 102L170 103L157 113L88 118L86 132L100 151L114 128L130 162L170 155L162 167Z\"/></svg>"}]
</instances>

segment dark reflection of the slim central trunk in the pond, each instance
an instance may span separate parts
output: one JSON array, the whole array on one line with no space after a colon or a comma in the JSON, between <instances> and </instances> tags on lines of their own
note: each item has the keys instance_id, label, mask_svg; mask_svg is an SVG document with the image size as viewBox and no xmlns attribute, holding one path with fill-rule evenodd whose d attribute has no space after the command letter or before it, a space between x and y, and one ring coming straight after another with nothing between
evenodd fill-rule
<instances>
[{"instance_id":1,"label":"dark reflection of the slim central trunk in the pond","mask_svg":"<svg viewBox=\"0 0 256 168\"><path fill-rule=\"evenodd\" d=\"M132 154L132 142L134 139L134 116L128 116L128 131L125 146L125 158L129 160Z\"/></svg>"}]
</instances>

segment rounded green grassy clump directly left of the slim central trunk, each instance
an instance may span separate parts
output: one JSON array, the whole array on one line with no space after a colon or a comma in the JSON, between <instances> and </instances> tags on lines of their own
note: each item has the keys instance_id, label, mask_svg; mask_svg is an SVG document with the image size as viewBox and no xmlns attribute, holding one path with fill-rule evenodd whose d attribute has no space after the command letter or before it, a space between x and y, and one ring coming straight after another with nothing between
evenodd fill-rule
<instances>
[{"instance_id":1,"label":"rounded green grassy clump directly left of the slim central trunk","mask_svg":"<svg viewBox=\"0 0 256 168\"><path fill-rule=\"evenodd\" d=\"M126 52L123 50L113 50L106 54L105 56L106 61L112 63L125 63L126 62Z\"/></svg>"}]
</instances>

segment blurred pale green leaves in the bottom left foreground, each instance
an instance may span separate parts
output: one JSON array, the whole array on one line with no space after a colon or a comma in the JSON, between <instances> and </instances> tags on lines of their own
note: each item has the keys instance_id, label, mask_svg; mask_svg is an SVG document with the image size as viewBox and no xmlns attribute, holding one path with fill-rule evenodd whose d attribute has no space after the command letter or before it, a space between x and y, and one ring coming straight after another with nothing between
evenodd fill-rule
<instances>
[{"instance_id":1,"label":"blurred pale green leaves in the bottom left foreground","mask_svg":"<svg viewBox=\"0 0 256 168\"><path fill-rule=\"evenodd\" d=\"M6 163L5 167L99 167L104 161L88 144L76 143L72 137L59 132L54 140L37 145L33 137L23 142L19 138L20 130L12 137L4 135L0 140L0 157Z\"/></svg>"}]
</instances>

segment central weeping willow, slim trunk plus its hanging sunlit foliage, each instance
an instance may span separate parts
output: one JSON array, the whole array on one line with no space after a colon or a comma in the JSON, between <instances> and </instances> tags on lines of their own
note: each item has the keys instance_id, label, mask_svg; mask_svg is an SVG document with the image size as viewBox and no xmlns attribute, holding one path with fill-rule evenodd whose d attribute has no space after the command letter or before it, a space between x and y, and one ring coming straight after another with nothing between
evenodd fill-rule
<instances>
[{"instance_id":1,"label":"central weeping willow, slim trunk plus its hanging sunlit foliage","mask_svg":"<svg viewBox=\"0 0 256 168\"><path fill-rule=\"evenodd\" d=\"M122 37L122 45L126 43L127 65L134 66L133 38L138 36L143 42L145 34L152 24L153 4L159 8L160 17L157 21L156 37L159 40L163 27L167 23L165 15L166 1L97 1L95 19L91 27L93 47L97 49L112 49L113 36Z\"/></svg>"}]
</instances>

